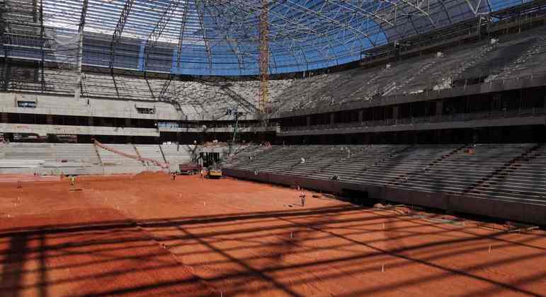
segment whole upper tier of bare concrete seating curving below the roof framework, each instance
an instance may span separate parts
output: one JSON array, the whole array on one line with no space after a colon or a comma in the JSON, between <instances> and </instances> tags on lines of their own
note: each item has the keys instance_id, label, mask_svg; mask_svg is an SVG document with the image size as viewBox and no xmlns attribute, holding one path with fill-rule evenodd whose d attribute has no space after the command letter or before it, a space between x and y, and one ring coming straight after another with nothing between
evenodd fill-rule
<instances>
[{"instance_id":1,"label":"whole upper tier of bare concrete seating curving below the roof framework","mask_svg":"<svg viewBox=\"0 0 546 297\"><path fill-rule=\"evenodd\" d=\"M546 27L460 45L438 53L402 59L372 68L358 68L305 78L270 81L269 103L273 112L326 107L382 96L423 93L470 83L543 75L546 71ZM4 74L2 74L4 75ZM12 66L8 90L74 95L74 69L40 69ZM195 78L197 79L197 78ZM259 81L185 81L85 72L82 93L96 98L166 100L178 103L186 114L207 120L231 120L227 109L237 107L240 96L253 105L259 98Z\"/></svg>"}]
</instances>

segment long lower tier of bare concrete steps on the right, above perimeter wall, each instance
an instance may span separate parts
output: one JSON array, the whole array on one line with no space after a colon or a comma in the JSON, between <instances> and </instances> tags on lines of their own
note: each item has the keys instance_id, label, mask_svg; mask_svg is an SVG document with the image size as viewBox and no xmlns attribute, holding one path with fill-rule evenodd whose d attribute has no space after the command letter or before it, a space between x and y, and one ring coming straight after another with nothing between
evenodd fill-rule
<instances>
[{"instance_id":1,"label":"long lower tier of bare concrete steps on the right, above perimeter wall","mask_svg":"<svg viewBox=\"0 0 546 297\"><path fill-rule=\"evenodd\" d=\"M546 147L542 144L271 146L254 156L235 156L229 167L546 204Z\"/></svg>"}]
</instances>

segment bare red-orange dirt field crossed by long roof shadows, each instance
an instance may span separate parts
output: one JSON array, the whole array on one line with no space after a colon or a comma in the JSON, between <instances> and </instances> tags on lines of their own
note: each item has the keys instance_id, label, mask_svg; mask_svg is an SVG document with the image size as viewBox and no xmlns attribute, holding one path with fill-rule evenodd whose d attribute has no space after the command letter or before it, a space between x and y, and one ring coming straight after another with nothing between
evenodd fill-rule
<instances>
[{"instance_id":1,"label":"bare red-orange dirt field crossed by long roof shadows","mask_svg":"<svg viewBox=\"0 0 546 297\"><path fill-rule=\"evenodd\" d=\"M1 183L0 296L546 294L544 231L297 195L159 173Z\"/></svg>"}]
</instances>

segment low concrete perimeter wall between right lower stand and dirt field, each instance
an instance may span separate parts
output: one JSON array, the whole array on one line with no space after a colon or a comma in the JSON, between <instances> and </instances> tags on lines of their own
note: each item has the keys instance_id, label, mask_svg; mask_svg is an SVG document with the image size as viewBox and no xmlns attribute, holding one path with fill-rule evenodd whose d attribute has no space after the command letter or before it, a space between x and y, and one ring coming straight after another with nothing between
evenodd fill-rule
<instances>
[{"instance_id":1,"label":"low concrete perimeter wall between right lower stand and dirt field","mask_svg":"<svg viewBox=\"0 0 546 297\"><path fill-rule=\"evenodd\" d=\"M358 190L368 192L371 199L387 200L401 204L413 204L448 211L478 214L511 221L535 223L546 226L546 205L504 202L494 199L482 199L445 193L430 193L401 190L391 187L352 184L327 180L310 180L302 177L275 175L271 173L255 173L225 168L224 174L245 180L256 180L278 185L300 185L312 190L342 193L343 190Z\"/></svg>"}]
</instances>

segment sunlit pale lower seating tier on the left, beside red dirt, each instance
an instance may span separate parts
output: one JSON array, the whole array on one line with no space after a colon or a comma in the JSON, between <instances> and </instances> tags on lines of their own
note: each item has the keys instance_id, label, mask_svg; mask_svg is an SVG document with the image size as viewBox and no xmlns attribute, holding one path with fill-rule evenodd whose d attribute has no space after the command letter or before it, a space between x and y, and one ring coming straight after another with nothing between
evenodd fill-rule
<instances>
[{"instance_id":1,"label":"sunlit pale lower seating tier on the left, beside red dirt","mask_svg":"<svg viewBox=\"0 0 546 297\"><path fill-rule=\"evenodd\" d=\"M169 163L171 170L190 161L190 146L173 144L107 144L117 152L93 144L0 143L0 174L86 175L140 173L161 170L152 161ZM131 157L127 157L131 156Z\"/></svg>"}]
</instances>

